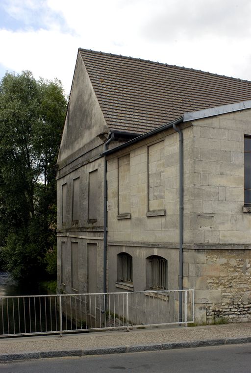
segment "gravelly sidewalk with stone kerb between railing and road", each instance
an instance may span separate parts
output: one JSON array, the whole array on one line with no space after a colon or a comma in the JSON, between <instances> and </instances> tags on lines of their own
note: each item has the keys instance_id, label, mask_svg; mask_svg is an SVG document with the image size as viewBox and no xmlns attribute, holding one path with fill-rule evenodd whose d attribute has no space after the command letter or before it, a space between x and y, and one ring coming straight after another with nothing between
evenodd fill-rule
<instances>
[{"instance_id":1,"label":"gravelly sidewalk with stone kerb between railing and road","mask_svg":"<svg viewBox=\"0 0 251 373\"><path fill-rule=\"evenodd\" d=\"M0 361L251 342L251 323L0 339Z\"/></svg>"}]
</instances>

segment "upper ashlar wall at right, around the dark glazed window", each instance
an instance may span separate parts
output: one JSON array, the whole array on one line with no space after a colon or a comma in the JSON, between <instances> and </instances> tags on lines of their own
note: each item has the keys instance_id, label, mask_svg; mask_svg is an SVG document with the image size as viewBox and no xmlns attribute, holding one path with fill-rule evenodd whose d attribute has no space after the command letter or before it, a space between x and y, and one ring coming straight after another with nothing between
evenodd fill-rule
<instances>
[{"instance_id":1,"label":"upper ashlar wall at right, around the dark glazed window","mask_svg":"<svg viewBox=\"0 0 251 373\"><path fill-rule=\"evenodd\" d=\"M244 206L244 135L251 109L193 122L195 244L251 244L251 214Z\"/></svg>"}]
</instances>

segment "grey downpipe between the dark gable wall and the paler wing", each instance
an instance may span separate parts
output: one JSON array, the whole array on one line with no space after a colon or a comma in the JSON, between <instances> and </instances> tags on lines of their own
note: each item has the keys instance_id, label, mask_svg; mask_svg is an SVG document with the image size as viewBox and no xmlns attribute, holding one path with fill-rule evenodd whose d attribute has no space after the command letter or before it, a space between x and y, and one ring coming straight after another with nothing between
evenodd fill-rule
<instances>
[{"instance_id":1,"label":"grey downpipe between the dark gable wall and the paler wing","mask_svg":"<svg viewBox=\"0 0 251 373\"><path fill-rule=\"evenodd\" d=\"M104 150L108 149L108 145L114 139L114 133L111 134L111 137L105 142ZM106 257L107 257L107 160L104 156L104 241L103 241L103 293L106 293Z\"/></svg>"}]
</instances>

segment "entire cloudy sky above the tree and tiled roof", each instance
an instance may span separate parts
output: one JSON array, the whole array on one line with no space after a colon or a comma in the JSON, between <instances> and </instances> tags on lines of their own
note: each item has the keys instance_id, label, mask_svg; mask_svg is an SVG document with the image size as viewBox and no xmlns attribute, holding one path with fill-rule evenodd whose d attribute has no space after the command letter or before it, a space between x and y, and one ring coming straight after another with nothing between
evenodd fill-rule
<instances>
[{"instance_id":1,"label":"entire cloudy sky above the tree and tiled roof","mask_svg":"<svg viewBox=\"0 0 251 373\"><path fill-rule=\"evenodd\" d=\"M0 0L0 77L68 94L79 47L251 80L251 0Z\"/></svg>"}]
</instances>

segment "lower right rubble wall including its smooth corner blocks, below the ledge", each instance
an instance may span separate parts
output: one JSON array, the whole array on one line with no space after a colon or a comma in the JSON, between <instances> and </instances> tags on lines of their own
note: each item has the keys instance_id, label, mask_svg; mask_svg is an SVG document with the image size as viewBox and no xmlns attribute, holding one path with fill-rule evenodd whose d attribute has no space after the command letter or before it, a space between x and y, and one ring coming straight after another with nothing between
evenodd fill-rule
<instances>
[{"instance_id":1,"label":"lower right rubble wall including its smooth corner blocks, below the ledge","mask_svg":"<svg viewBox=\"0 0 251 373\"><path fill-rule=\"evenodd\" d=\"M184 261L184 286L197 289L199 323L251 320L251 250L187 250Z\"/></svg>"}]
</instances>

